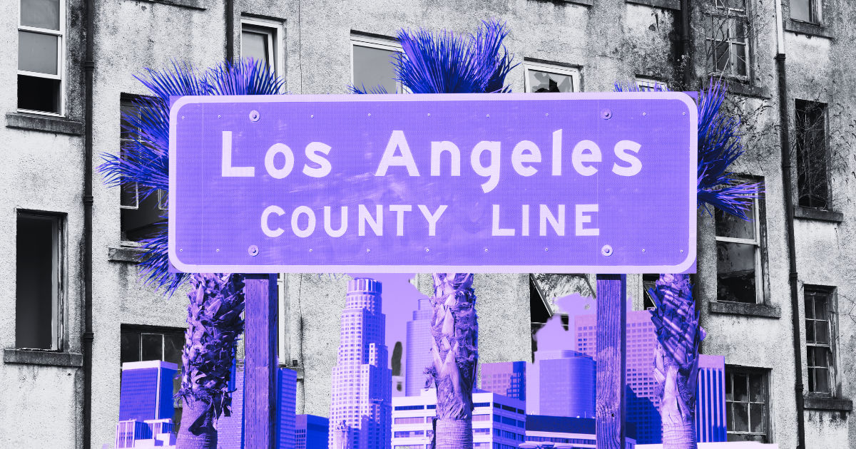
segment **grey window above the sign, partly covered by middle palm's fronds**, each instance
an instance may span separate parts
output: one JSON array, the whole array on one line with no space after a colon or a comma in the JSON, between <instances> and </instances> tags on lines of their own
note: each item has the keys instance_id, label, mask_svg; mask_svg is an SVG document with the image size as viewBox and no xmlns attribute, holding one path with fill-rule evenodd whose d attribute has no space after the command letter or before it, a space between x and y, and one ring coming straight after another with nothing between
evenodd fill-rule
<instances>
[{"instance_id":1,"label":"grey window above the sign, partly covered by middle palm's fronds","mask_svg":"<svg viewBox=\"0 0 856 449\"><path fill-rule=\"evenodd\" d=\"M352 35L351 83L364 92L404 92L394 65L401 51L395 40Z\"/></svg>"}]
</instances>

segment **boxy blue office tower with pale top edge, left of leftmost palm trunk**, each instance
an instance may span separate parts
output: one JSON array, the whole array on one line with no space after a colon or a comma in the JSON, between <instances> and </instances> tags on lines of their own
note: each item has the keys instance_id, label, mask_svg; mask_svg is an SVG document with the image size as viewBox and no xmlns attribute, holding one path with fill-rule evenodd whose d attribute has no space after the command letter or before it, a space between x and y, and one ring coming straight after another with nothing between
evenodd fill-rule
<instances>
[{"instance_id":1,"label":"boxy blue office tower with pale top edge, left of leftmost palm trunk","mask_svg":"<svg viewBox=\"0 0 856 449\"><path fill-rule=\"evenodd\" d=\"M122 363L119 421L172 419L172 381L178 366L160 360Z\"/></svg>"}]
</instances>

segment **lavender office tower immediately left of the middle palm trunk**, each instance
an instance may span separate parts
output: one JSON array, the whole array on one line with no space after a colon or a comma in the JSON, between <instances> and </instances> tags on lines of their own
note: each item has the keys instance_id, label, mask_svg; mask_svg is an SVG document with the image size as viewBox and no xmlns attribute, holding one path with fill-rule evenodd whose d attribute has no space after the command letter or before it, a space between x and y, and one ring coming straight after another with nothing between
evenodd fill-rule
<instances>
[{"instance_id":1,"label":"lavender office tower immediately left of the middle palm trunk","mask_svg":"<svg viewBox=\"0 0 856 449\"><path fill-rule=\"evenodd\" d=\"M407 322L407 346L405 347L404 392L407 396L419 396L425 388L425 368L431 366L431 315L434 309L428 298L419 299L417 310L413 310L413 321Z\"/></svg>"}]
</instances>

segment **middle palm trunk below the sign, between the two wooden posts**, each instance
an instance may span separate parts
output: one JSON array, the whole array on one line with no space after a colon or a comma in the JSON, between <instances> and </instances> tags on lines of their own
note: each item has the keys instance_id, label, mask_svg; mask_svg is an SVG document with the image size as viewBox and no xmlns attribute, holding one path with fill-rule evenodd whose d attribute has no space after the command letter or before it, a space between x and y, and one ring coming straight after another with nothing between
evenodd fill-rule
<instances>
[{"instance_id":1,"label":"middle palm trunk below the sign, between the two wooden posts","mask_svg":"<svg viewBox=\"0 0 856 449\"><path fill-rule=\"evenodd\" d=\"M431 355L437 387L437 449L472 449L479 323L472 273L435 273Z\"/></svg>"}]
</instances>

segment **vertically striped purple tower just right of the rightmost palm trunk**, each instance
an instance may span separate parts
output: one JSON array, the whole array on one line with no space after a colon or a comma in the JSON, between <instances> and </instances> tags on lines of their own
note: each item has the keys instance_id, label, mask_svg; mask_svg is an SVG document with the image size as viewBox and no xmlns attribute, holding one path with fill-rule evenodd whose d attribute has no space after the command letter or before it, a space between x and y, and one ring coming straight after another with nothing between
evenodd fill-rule
<instances>
[{"instance_id":1,"label":"vertically striped purple tower just right of the rightmost palm trunk","mask_svg":"<svg viewBox=\"0 0 856 449\"><path fill-rule=\"evenodd\" d=\"M696 441L725 441L725 357L698 356Z\"/></svg>"}]
</instances>

